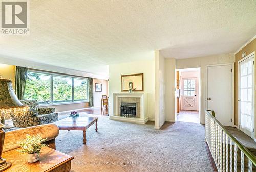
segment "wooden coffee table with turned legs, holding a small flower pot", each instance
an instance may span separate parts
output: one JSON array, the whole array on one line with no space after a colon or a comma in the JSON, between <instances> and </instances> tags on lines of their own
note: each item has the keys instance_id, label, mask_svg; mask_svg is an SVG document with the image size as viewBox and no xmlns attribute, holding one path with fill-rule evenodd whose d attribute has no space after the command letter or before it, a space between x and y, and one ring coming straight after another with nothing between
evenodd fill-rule
<instances>
[{"instance_id":1,"label":"wooden coffee table with turned legs, holding a small flower pot","mask_svg":"<svg viewBox=\"0 0 256 172\"><path fill-rule=\"evenodd\" d=\"M54 122L54 124L56 124L59 127L59 130L82 130L83 144L86 144L86 130L95 123L95 131L97 132L97 122L97 117L78 117L76 122L73 122L72 118L70 117Z\"/></svg>"}]
</instances>

